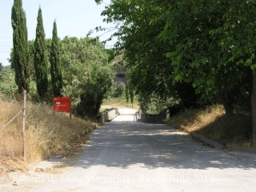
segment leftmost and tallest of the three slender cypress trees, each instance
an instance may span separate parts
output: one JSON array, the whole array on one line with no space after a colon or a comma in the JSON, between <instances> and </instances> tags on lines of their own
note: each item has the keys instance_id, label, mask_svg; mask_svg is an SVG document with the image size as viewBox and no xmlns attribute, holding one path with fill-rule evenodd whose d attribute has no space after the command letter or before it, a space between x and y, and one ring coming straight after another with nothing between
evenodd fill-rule
<instances>
[{"instance_id":1,"label":"leftmost and tallest of the three slender cypress trees","mask_svg":"<svg viewBox=\"0 0 256 192\"><path fill-rule=\"evenodd\" d=\"M14 0L11 10L11 24L13 27L14 70L18 93L29 91L29 46L27 41L26 14L22 9L22 0Z\"/></svg>"}]
</instances>

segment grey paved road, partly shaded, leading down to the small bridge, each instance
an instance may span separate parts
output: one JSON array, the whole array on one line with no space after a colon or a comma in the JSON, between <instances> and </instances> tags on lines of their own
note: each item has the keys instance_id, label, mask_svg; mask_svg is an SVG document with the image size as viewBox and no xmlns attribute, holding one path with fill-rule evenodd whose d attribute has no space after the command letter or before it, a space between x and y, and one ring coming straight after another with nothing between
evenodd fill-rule
<instances>
[{"instance_id":1,"label":"grey paved road, partly shaded, leading down to the small bridge","mask_svg":"<svg viewBox=\"0 0 256 192\"><path fill-rule=\"evenodd\" d=\"M16 178L11 191L256 191L254 161L169 126L134 122L134 110L120 112L94 131L62 174Z\"/></svg>"}]
</instances>

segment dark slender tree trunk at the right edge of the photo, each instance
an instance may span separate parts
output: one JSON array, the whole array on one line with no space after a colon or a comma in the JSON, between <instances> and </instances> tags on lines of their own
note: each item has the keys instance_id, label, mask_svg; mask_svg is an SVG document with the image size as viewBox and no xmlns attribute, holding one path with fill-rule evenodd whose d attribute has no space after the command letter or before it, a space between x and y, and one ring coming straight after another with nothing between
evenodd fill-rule
<instances>
[{"instance_id":1,"label":"dark slender tree trunk at the right edge of the photo","mask_svg":"<svg viewBox=\"0 0 256 192\"><path fill-rule=\"evenodd\" d=\"M252 92L250 96L251 103L251 117L253 123L253 142L256 144L256 69L252 71L253 82L252 82Z\"/></svg>"}]
</instances>

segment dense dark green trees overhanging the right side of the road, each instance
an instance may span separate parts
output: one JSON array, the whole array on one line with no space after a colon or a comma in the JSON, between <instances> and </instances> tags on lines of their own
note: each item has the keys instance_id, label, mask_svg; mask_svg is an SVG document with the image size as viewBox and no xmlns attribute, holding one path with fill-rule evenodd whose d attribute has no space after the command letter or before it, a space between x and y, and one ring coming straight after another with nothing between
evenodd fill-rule
<instances>
[{"instance_id":1,"label":"dense dark green trees overhanging the right side of the road","mask_svg":"<svg viewBox=\"0 0 256 192\"><path fill-rule=\"evenodd\" d=\"M250 130L256 143L255 10L255 1L120 0L102 15L116 25L114 53L122 55L143 112L222 105L226 117L218 122L230 121L219 129L248 114L241 132Z\"/></svg>"}]
</instances>

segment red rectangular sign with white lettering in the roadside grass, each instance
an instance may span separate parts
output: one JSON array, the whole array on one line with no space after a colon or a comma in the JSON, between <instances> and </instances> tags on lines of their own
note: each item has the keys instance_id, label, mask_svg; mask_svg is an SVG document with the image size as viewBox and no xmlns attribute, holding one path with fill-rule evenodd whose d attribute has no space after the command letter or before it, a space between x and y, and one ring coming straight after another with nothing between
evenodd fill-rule
<instances>
[{"instance_id":1,"label":"red rectangular sign with white lettering in the roadside grass","mask_svg":"<svg viewBox=\"0 0 256 192\"><path fill-rule=\"evenodd\" d=\"M71 99L70 98L54 98L54 111L70 113Z\"/></svg>"}]
</instances>

